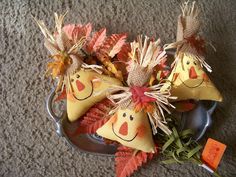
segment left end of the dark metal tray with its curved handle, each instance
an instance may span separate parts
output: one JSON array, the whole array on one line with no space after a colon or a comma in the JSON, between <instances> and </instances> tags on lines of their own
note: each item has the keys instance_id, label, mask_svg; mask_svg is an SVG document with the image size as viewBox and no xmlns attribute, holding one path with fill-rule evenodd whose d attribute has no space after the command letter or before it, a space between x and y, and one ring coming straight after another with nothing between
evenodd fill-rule
<instances>
[{"instance_id":1,"label":"left end of the dark metal tray with its curved handle","mask_svg":"<svg viewBox=\"0 0 236 177\"><path fill-rule=\"evenodd\" d=\"M61 116L57 116L53 111L53 99L55 91L51 91L47 99L47 111L56 124L56 132L60 137L75 148L82 152L89 152L97 155L112 156L115 154L117 146L113 144L105 144L103 138L96 134L79 134L74 132L80 124L80 120L70 122L67 117L66 111Z\"/></svg>"}]
</instances>

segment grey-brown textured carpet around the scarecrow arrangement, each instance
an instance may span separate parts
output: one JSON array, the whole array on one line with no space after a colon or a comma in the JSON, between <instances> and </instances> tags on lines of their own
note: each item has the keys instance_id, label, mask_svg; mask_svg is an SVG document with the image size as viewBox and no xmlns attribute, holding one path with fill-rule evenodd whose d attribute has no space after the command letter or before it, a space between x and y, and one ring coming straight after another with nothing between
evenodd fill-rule
<instances>
[{"instance_id":1,"label":"grey-brown textured carpet around the scarecrow arrangement","mask_svg":"<svg viewBox=\"0 0 236 177\"><path fill-rule=\"evenodd\" d=\"M210 78L224 102L213 115L206 137L227 144L219 167L222 176L236 176L236 1L201 0L202 32L217 52L208 48ZM114 159L79 152L55 132L45 99L51 84L43 77L48 53L43 35L30 14L54 27L53 12L69 10L66 22L91 22L95 30L128 32L175 40L176 0L1 0L0 1L0 176L110 177ZM204 143L206 139L203 139ZM166 166L153 160L134 174L141 176L211 176L192 164Z\"/></svg>"}]
</instances>

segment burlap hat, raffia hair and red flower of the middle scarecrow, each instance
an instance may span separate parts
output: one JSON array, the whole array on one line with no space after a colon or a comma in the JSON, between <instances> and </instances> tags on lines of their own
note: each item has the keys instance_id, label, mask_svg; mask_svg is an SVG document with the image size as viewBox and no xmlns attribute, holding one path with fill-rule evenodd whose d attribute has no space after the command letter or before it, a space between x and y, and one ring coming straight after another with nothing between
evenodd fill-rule
<instances>
[{"instance_id":1,"label":"burlap hat, raffia hair and red flower of the middle scarecrow","mask_svg":"<svg viewBox=\"0 0 236 177\"><path fill-rule=\"evenodd\" d=\"M129 108L135 111L145 111L148 114L152 125L153 134L157 133L159 127L166 134L171 131L165 125L164 110L170 113L168 107L174 107L169 103L169 99L175 99L170 94L170 88L161 91L163 84L147 86L154 67L166 58L165 51L161 51L160 40L150 41L145 37L139 36L137 42L131 43L131 58L129 74L127 79L128 86L116 86L106 90L107 97L116 108L110 113L115 113L118 109Z\"/></svg>"}]
</instances>

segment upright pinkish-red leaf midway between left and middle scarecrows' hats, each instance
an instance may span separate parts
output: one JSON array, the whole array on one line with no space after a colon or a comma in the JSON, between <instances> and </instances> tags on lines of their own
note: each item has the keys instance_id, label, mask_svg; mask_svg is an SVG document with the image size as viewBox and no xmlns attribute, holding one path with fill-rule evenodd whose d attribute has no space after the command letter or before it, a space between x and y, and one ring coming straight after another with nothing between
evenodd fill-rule
<instances>
[{"instance_id":1,"label":"upright pinkish-red leaf midway between left and middle scarecrows' hats","mask_svg":"<svg viewBox=\"0 0 236 177\"><path fill-rule=\"evenodd\" d=\"M100 46L103 44L105 38L106 38L106 28L103 28L99 30L98 32L96 32L93 35L92 39L87 44L87 47L86 47L87 52L88 53L96 52L100 48Z\"/></svg>"}]
</instances>

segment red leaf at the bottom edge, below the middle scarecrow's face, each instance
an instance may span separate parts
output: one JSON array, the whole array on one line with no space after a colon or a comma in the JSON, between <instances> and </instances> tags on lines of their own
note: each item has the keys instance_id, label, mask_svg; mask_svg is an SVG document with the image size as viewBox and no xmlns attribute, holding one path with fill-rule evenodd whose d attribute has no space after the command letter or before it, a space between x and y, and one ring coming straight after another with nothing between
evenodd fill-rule
<instances>
[{"instance_id":1,"label":"red leaf at the bottom edge, below the middle scarecrow's face","mask_svg":"<svg viewBox=\"0 0 236 177\"><path fill-rule=\"evenodd\" d=\"M119 147L115 154L116 176L130 176L144 163L147 163L148 160L151 160L155 155L157 155L157 153L157 147L155 153L139 151L136 155L134 155L134 149L126 146Z\"/></svg>"}]
</instances>

